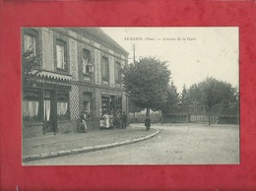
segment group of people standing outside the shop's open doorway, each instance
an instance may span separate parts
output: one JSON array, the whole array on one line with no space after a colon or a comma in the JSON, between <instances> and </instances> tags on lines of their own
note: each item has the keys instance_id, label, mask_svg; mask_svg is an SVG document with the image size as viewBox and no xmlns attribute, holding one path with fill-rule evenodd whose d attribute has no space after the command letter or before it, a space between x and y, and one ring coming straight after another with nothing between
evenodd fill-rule
<instances>
[{"instance_id":1,"label":"group of people standing outside the shop's open doorway","mask_svg":"<svg viewBox=\"0 0 256 191\"><path fill-rule=\"evenodd\" d=\"M125 112L121 113L119 110L113 114L105 112L99 120L100 129L122 128L126 129L127 115Z\"/></svg>"}]
</instances>

